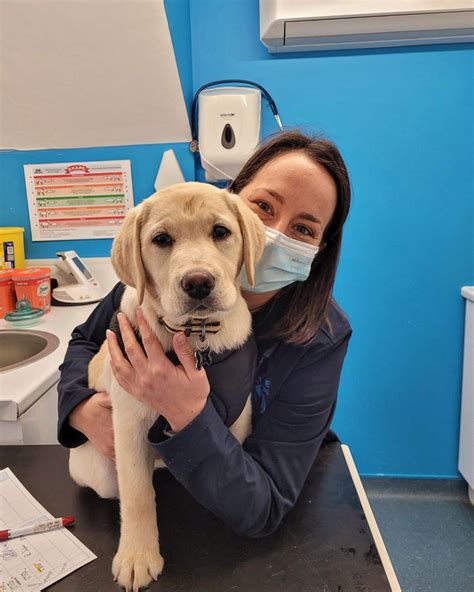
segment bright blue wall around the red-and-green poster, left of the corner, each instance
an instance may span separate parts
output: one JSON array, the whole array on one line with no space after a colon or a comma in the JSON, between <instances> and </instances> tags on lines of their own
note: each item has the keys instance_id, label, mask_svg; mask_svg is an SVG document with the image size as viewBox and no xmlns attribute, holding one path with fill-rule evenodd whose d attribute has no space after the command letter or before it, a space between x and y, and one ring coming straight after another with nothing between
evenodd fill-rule
<instances>
[{"instance_id":1,"label":"bright blue wall around the red-and-green poster, left of the corner","mask_svg":"<svg viewBox=\"0 0 474 592\"><path fill-rule=\"evenodd\" d=\"M192 101L191 30L189 0L165 2L173 47L178 64L186 105ZM0 226L23 226L25 253L30 259L54 257L57 251L75 249L83 257L104 257L110 253L112 241L74 240L32 242L26 198L24 164L93 160L130 160L135 203L154 192L153 184L165 150L173 148L186 180L194 179L194 160L187 143L67 150L26 150L0 152Z\"/></svg>"}]
</instances>

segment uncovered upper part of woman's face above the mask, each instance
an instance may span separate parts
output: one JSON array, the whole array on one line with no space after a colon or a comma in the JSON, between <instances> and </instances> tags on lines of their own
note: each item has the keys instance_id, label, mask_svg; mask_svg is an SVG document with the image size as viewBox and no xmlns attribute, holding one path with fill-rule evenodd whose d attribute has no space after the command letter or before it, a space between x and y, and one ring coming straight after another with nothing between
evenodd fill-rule
<instances>
[{"instance_id":1,"label":"uncovered upper part of woman's face above the mask","mask_svg":"<svg viewBox=\"0 0 474 592\"><path fill-rule=\"evenodd\" d=\"M336 209L336 184L303 152L288 152L263 166L239 193L265 226L295 240L321 243Z\"/></svg>"}]
</instances>

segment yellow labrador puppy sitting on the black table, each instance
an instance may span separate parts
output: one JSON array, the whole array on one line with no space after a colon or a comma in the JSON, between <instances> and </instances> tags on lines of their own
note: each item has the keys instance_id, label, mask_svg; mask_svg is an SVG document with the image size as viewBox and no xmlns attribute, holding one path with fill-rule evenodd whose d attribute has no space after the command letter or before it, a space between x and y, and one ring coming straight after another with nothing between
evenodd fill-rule
<instances>
[{"instance_id":1,"label":"yellow labrador puppy sitting on the black table","mask_svg":"<svg viewBox=\"0 0 474 592\"><path fill-rule=\"evenodd\" d=\"M206 334L211 352L240 348L251 334L251 315L240 294L242 265L253 284L254 266L265 244L260 219L239 197L204 183L180 183L133 208L114 240L112 263L125 289L121 310L137 331L141 306L152 331L172 349L168 327L220 323ZM191 314L192 313L192 314ZM200 348L191 333L192 347ZM89 384L110 394L116 463L89 442L71 450L69 469L81 486L101 497L119 497L121 533L112 573L127 590L138 590L163 569L158 543L152 474L154 453L146 435L156 412L115 380L107 343L89 365ZM250 432L250 397L231 431L242 442Z\"/></svg>"}]
</instances>

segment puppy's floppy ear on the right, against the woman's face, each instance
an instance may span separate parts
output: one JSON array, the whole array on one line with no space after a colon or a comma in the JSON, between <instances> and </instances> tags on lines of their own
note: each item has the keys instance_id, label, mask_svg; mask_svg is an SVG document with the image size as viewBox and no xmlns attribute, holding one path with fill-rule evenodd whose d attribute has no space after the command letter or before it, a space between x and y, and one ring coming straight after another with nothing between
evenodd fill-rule
<instances>
[{"instance_id":1,"label":"puppy's floppy ear on the right, against the woman's face","mask_svg":"<svg viewBox=\"0 0 474 592\"><path fill-rule=\"evenodd\" d=\"M255 283L255 266L265 247L265 229L260 218L243 202L238 195L224 190L229 208L235 214L243 240L243 263L250 286Z\"/></svg>"}]
</instances>

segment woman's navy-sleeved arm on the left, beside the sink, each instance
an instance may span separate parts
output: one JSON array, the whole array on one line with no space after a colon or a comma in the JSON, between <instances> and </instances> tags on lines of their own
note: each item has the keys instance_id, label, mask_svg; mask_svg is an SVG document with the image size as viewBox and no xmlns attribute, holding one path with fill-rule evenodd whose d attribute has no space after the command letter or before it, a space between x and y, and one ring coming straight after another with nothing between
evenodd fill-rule
<instances>
[{"instance_id":1,"label":"woman's navy-sleeved arm on the left, beside the sink","mask_svg":"<svg viewBox=\"0 0 474 592\"><path fill-rule=\"evenodd\" d=\"M105 341L105 332L113 313L120 306L124 290L125 286L118 283L97 305L87 321L74 329L64 362L59 367L61 378L58 384L58 440L68 448L79 446L87 440L83 432L74 429L69 423L74 410L82 415L87 413L87 417L96 417L99 420L101 414L107 411L108 401L104 393L96 394L88 386L87 367ZM92 401L90 397L93 395L95 397ZM86 400L90 400L90 404ZM108 414L110 415L110 410Z\"/></svg>"}]
</instances>

